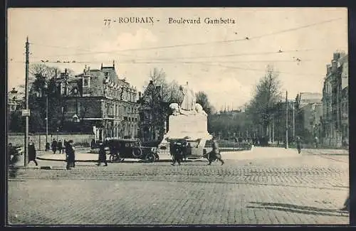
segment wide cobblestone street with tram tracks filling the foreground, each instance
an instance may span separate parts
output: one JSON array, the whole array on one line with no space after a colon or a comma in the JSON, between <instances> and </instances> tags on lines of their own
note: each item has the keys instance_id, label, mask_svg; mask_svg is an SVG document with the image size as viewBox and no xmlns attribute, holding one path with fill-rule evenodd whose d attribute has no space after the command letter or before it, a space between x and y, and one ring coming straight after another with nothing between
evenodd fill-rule
<instances>
[{"instance_id":1,"label":"wide cobblestone street with tram tracks filling the foreground","mask_svg":"<svg viewBox=\"0 0 356 231\"><path fill-rule=\"evenodd\" d=\"M340 210L349 188L347 155L305 152L223 166L77 163L70 171L56 164L20 169L9 179L11 224L349 223Z\"/></svg>"}]
</instances>

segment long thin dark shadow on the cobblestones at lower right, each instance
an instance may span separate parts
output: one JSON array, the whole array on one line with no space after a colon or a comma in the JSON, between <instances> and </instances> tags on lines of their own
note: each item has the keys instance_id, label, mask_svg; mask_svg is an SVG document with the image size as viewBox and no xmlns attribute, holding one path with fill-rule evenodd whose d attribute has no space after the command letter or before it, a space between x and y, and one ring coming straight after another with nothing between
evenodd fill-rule
<instances>
[{"instance_id":1,"label":"long thin dark shadow on the cobblestones at lower right","mask_svg":"<svg viewBox=\"0 0 356 231\"><path fill-rule=\"evenodd\" d=\"M270 210L286 211L291 213L303 213L308 215L325 215L325 216L336 216L336 217L349 216L348 212L345 210L334 210L328 208L292 205L287 203L259 203L259 202L250 202L250 203L257 204L258 206L247 206L247 208L263 208L263 209L270 209Z\"/></svg>"}]
</instances>

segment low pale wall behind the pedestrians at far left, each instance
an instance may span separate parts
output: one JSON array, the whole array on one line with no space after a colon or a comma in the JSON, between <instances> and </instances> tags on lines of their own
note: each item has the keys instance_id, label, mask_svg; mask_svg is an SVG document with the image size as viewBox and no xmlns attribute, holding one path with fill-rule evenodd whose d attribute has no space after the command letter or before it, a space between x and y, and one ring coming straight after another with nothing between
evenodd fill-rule
<instances>
[{"instance_id":1,"label":"low pale wall behind the pedestrians at far left","mask_svg":"<svg viewBox=\"0 0 356 231\"><path fill-rule=\"evenodd\" d=\"M37 150L45 149L46 134L30 134L29 138L33 141L33 143L35 143ZM13 146L23 146L24 139L24 134L8 134L7 143L11 143ZM66 139L66 141L73 139L74 145L75 143L78 144L83 142L88 142L88 144L90 144L90 141L94 139L94 134L58 134L58 139L57 134L48 134L48 142L50 144L53 139L56 139L57 141L58 139L61 139L62 141L64 139Z\"/></svg>"}]
</instances>

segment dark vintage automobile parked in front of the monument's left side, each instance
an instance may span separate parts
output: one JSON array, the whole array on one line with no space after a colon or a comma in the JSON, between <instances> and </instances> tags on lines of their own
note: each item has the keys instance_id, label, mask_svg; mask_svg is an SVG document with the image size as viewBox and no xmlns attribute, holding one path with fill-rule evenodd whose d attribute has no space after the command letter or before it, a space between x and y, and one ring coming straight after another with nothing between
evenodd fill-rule
<instances>
[{"instance_id":1,"label":"dark vintage automobile parked in front of the monument's left side","mask_svg":"<svg viewBox=\"0 0 356 231\"><path fill-rule=\"evenodd\" d=\"M137 139L109 139L104 142L110 153L110 162L122 162L128 159L142 159L147 162L159 161L157 148L142 146Z\"/></svg>"}]
</instances>

